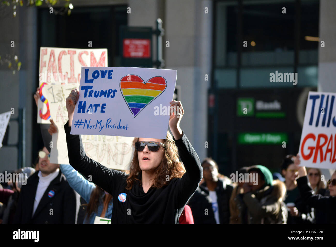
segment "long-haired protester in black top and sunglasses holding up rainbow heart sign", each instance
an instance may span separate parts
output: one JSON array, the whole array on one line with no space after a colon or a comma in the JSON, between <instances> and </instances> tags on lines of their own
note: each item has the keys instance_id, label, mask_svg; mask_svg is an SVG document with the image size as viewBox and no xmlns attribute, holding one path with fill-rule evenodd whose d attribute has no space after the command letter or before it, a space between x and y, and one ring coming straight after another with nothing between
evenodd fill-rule
<instances>
[{"instance_id":1,"label":"long-haired protester in black top and sunglasses holding up rainbow heart sign","mask_svg":"<svg viewBox=\"0 0 336 247\"><path fill-rule=\"evenodd\" d=\"M70 164L113 196L111 223L175 223L184 205L202 179L202 167L194 148L179 123L184 110L180 101L171 101L178 111L169 118L173 138L135 138L130 174L109 169L87 157L80 135L70 135L77 89L66 100L69 121L65 124ZM149 119L150 120L150 119ZM183 165L179 161L181 158Z\"/></svg>"}]
</instances>

